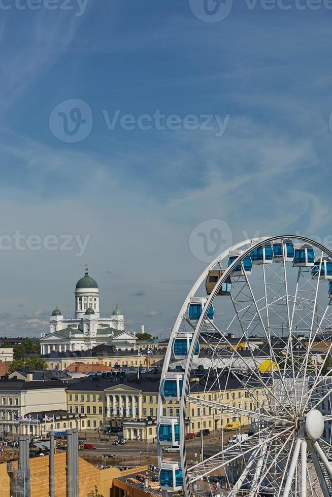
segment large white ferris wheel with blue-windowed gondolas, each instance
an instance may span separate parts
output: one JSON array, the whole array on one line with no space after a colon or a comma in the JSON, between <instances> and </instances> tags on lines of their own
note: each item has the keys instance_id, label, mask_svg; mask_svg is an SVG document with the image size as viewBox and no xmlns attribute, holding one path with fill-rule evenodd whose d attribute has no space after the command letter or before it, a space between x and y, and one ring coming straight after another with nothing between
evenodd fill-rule
<instances>
[{"instance_id":1,"label":"large white ferris wheel with blue-windowed gondolas","mask_svg":"<svg viewBox=\"0 0 332 497\"><path fill-rule=\"evenodd\" d=\"M332 495L332 253L305 237L246 240L184 301L157 418L166 496Z\"/></svg>"}]
</instances>

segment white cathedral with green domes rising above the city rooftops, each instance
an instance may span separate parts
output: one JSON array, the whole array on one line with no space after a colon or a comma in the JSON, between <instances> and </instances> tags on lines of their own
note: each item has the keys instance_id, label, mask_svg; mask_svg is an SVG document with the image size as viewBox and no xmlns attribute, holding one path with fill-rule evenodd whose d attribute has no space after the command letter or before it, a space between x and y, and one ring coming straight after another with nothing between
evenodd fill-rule
<instances>
[{"instance_id":1,"label":"white cathedral with green domes rising above the city rooftops","mask_svg":"<svg viewBox=\"0 0 332 497\"><path fill-rule=\"evenodd\" d=\"M99 289L88 268L75 288L75 317L64 317L56 307L50 317L50 333L41 334L41 354L52 351L90 350L106 343L117 350L133 350L137 338L124 330L124 317L118 306L108 317L99 314Z\"/></svg>"}]
</instances>

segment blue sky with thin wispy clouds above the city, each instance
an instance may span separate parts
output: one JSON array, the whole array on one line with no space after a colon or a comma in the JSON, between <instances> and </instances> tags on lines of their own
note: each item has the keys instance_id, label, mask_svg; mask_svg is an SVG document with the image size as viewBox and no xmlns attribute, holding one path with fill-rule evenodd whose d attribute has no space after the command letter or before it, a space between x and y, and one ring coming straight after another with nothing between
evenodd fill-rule
<instances>
[{"instance_id":1,"label":"blue sky with thin wispy clouds above the city","mask_svg":"<svg viewBox=\"0 0 332 497\"><path fill-rule=\"evenodd\" d=\"M74 242L0 250L2 335L47 331L56 303L71 316L85 263L104 315L119 304L129 329L144 323L166 335L205 265L189 235L211 219L234 241L295 231L328 240L327 1L266 10L262 0L236 0L219 22L194 15L203 0L89 0L82 15L74 0L73 10L60 9L63 0L54 10L20 2L25 9L0 6L0 234L89 241L81 257ZM92 117L88 135L69 143L56 136L64 121L52 111L65 113L73 99ZM105 115L116 110L133 116L134 129L108 129ZM156 111L179 116L179 129L137 126ZM212 130L191 130L188 115L228 121L216 136L215 119Z\"/></svg>"}]
</instances>

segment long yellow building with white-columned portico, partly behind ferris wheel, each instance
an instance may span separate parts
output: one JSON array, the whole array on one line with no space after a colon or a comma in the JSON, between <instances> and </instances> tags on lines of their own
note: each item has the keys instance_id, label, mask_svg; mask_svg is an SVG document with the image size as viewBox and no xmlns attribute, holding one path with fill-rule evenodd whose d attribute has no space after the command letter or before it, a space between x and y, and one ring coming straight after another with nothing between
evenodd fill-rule
<instances>
[{"instance_id":1,"label":"long yellow building with white-columned portico, partly behind ferris wheel","mask_svg":"<svg viewBox=\"0 0 332 497\"><path fill-rule=\"evenodd\" d=\"M67 388L68 411L86 416L80 420L80 429L123 425L125 438L151 440L156 437L159 382L160 373L141 374L140 378L105 373L89 377ZM187 433L204 428L220 430L231 421L248 425L251 416L244 415L243 410L253 411L267 401L262 388L245 391L237 380L229 381L228 385L228 390L212 389L206 394L200 382L193 380L190 383L186 405ZM225 406L224 410L220 409L221 404ZM179 417L180 401L165 401L162 415Z\"/></svg>"}]
</instances>

